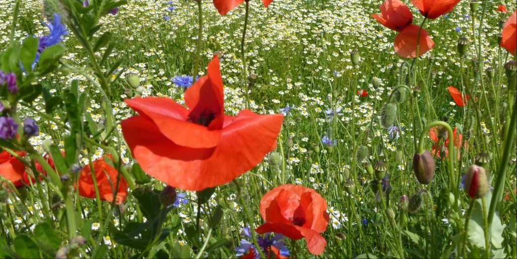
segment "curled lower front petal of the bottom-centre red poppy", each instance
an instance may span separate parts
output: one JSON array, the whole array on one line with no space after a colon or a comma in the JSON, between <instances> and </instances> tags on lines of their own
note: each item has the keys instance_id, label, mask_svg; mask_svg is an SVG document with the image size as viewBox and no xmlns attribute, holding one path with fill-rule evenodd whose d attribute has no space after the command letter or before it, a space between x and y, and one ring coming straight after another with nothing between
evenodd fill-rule
<instances>
[{"instance_id":1,"label":"curled lower front petal of the bottom-centre red poppy","mask_svg":"<svg viewBox=\"0 0 517 259\"><path fill-rule=\"evenodd\" d=\"M327 240L320 233L307 227L291 224L265 223L256 228L255 231L258 234L274 232L295 240L305 238L309 252L315 255L322 254L327 244Z\"/></svg>"}]
</instances>

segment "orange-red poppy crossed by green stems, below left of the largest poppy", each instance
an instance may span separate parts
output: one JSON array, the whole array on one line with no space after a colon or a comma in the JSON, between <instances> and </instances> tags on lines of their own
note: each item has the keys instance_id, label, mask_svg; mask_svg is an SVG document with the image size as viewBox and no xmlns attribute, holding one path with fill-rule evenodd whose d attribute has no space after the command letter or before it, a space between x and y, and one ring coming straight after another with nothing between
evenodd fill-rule
<instances>
[{"instance_id":1,"label":"orange-red poppy crossed by green stems, below left of the largest poppy","mask_svg":"<svg viewBox=\"0 0 517 259\"><path fill-rule=\"evenodd\" d=\"M100 199L102 201L113 202L113 191L117 186L118 171L108 164L104 159L111 159L111 155L105 155L103 158L93 161L95 179L99 189ZM79 176L79 195L87 198L97 197L95 194L94 180L92 178L92 170L86 165L81 170ZM128 184L126 179L120 175L118 181L118 190L115 196L115 203L121 204L126 200Z\"/></svg>"}]
</instances>

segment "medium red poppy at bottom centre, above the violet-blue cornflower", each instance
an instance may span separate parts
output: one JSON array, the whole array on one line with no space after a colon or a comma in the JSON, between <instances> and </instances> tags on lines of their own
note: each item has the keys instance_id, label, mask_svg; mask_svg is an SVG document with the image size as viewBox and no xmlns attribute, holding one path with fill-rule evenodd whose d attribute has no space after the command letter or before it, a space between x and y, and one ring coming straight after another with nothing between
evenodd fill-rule
<instances>
[{"instance_id":1,"label":"medium red poppy at bottom centre, above the violet-blue cornflower","mask_svg":"<svg viewBox=\"0 0 517 259\"><path fill-rule=\"evenodd\" d=\"M305 238L309 252L320 255L327 241L320 234L328 225L327 203L315 190L282 185L262 197L260 212L265 224L258 234L275 232L291 239Z\"/></svg>"}]
</instances>

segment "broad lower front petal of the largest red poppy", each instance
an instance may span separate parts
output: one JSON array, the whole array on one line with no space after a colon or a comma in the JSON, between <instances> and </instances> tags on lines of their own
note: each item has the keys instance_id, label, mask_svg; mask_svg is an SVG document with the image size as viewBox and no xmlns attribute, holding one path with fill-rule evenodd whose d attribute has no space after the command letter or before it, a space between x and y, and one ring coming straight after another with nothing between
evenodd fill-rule
<instances>
[{"instance_id":1,"label":"broad lower front petal of the largest red poppy","mask_svg":"<svg viewBox=\"0 0 517 259\"><path fill-rule=\"evenodd\" d=\"M260 163L275 149L283 116L244 110L224 120L221 140L213 148L179 146L142 116L126 119L121 126L144 172L170 186L200 191L226 184Z\"/></svg>"}]
</instances>

